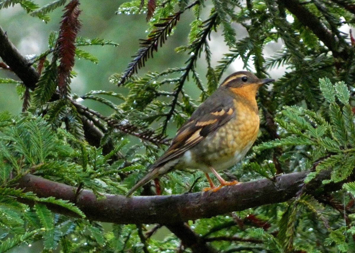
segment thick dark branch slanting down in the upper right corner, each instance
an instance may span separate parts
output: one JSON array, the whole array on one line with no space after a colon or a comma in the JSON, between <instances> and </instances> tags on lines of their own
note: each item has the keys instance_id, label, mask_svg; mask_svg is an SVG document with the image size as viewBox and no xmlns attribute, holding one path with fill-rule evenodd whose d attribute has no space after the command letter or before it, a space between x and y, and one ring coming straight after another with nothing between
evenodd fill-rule
<instances>
[{"instance_id":1,"label":"thick dark branch slanting down in the upper right corner","mask_svg":"<svg viewBox=\"0 0 355 253\"><path fill-rule=\"evenodd\" d=\"M334 56L348 58L346 50L339 52L339 41L324 24L297 0L279 0L298 20L312 30L312 32L333 52Z\"/></svg>"}]
</instances>

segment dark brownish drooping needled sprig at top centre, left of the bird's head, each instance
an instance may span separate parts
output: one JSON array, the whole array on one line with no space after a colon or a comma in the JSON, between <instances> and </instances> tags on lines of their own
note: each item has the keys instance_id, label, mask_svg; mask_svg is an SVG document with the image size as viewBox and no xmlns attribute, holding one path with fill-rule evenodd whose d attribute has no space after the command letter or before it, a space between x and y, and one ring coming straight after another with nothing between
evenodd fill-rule
<instances>
[{"instance_id":1,"label":"dark brownish drooping needled sprig at top centre, left of the bird's head","mask_svg":"<svg viewBox=\"0 0 355 253\"><path fill-rule=\"evenodd\" d=\"M156 24L154 24L155 29L149 33L147 39L141 39L141 48L138 50L137 54L132 56L134 57L133 61L130 62L128 68L121 77L121 80L118 83L118 86L123 85L127 78L129 78L133 73L138 73L138 69L145 66L145 62L152 57L153 52L158 51L158 45L163 46L165 40L168 39L173 28L176 26L180 19L181 13L190 9L191 7L199 4L200 1L195 1L189 6L186 6L184 10L176 12L174 15L162 18ZM149 15L149 12L148 12ZM148 16L147 16L148 18Z\"/></svg>"}]
</instances>

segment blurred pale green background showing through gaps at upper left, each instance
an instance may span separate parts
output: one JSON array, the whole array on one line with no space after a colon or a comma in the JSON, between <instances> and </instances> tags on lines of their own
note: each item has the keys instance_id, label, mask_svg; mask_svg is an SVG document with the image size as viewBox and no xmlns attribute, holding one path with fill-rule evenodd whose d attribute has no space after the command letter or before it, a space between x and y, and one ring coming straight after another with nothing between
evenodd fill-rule
<instances>
[{"instance_id":1,"label":"blurred pale green background showing through gaps at upper left","mask_svg":"<svg viewBox=\"0 0 355 253\"><path fill-rule=\"evenodd\" d=\"M43 6L50 1L35 1ZM68 1L69 2L69 1ZM109 76L113 73L124 72L139 49L139 39L147 36L146 16L140 15L116 15L118 7L125 1L81 1L82 10L80 18L82 28L79 35L92 39L103 38L113 40L120 45L114 46L86 46L82 49L89 51L99 59L99 63L93 64L87 60L76 59L74 70L77 77L72 80L72 92L82 95L90 90L114 90L115 92L127 92L125 88L119 88L109 83ZM62 16L62 7L50 13L51 21L42 22L37 17L27 15L26 11L16 4L13 7L0 10L0 26L7 32L11 42L23 55L33 56L43 53L48 48L48 35L50 31L58 31ZM193 19L193 13L187 11L181 17L173 36L169 37L163 48L154 54L154 58L148 60L139 74L147 71L161 71L172 66L183 66L187 59L186 53L176 54L174 49L187 44L189 23ZM17 79L10 71L0 70L0 77ZM198 96L197 96L198 97ZM93 109L104 112L108 108L99 108L98 103L84 102ZM93 103L93 104L91 104ZM0 105L2 110L13 113L21 111L22 102L16 94L13 84L0 85Z\"/></svg>"}]
</instances>

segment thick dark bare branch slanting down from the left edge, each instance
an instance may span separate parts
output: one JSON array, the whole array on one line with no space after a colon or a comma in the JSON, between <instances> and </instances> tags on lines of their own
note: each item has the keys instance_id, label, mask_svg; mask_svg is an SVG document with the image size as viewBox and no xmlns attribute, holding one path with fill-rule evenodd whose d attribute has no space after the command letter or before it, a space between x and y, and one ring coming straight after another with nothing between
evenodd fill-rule
<instances>
[{"instance_id":1,"label":"thick dark bare branch slanting down from the left edge","mask_svg":"<svg viewBox=\"0 0 355 253\"><path fill-rule=\"evenodd\" d=\"M17 48L15 48L1 26L0 57L9 65L11 70L22 80L26 87L32 90L35 88L39 79L39 73L31 66L30 62L20 54Z\"/></svg>"}]
</instances>

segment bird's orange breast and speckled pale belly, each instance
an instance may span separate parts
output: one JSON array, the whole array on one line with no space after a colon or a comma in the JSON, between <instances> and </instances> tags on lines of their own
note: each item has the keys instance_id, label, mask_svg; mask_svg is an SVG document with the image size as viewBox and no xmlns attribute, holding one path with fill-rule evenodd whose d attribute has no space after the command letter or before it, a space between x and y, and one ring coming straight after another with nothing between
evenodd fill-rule
<instances>
[{"instance_id":1,"label":"bird's orange breast and speckled pale belly","mask_svg":"<svg viewBox=\"0 0 355 253\"><path fill-rule=\"evenodd\" d=\"M197 147L185 152L187 166L211 171L224 170L239 162L251 148L259 131L259 115L250 106L238 103L237 115L216 132L202 140Z\"/></svg>"}]
</instances>

